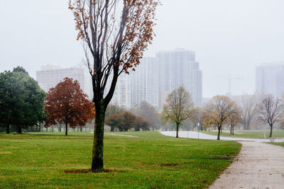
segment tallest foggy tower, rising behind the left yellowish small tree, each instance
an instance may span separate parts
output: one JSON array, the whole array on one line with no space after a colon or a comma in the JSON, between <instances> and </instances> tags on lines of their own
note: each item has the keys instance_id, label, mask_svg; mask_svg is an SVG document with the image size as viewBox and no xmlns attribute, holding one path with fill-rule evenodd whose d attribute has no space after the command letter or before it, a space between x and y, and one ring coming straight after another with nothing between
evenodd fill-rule
<instances>
[{"instance_id":1,"label":"tallest foggy tower, rising behind the left yellowish small tree","mask_svg":"<svg viewBox=\"0 0 284 189\"><path fill-rule=\"evenodd\" d=\"M163 106L165 91L184 86L190 92L195 105L202 105L202 71L195 61L195 52L184 49L161 51L156 54L158 61L159 107Z\"/></svg>"}]
</instances>

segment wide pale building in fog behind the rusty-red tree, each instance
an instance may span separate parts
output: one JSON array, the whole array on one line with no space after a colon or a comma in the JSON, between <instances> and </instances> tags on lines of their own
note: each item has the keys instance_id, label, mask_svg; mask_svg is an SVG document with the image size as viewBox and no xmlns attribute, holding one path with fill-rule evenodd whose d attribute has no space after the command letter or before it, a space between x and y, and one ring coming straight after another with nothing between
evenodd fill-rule
<instances>
[{"instance_id":1,"label":"wide pale building in fog behind the rusty-red tree","mask_svg":"<svg viewBox=\"0 0 284 189\"><path fill-rule=\"evenodd\" d=\"M89 79L85 74L84 68L72 67L61 69L60 66L48 64L41 67L40 71L36 71L36 81L38 81L38 85L45 92L48 92L50 88L57 86L60 81L65 79L65 77L79 81L82 91L87 93L89 98L92 98L92 93L90 93L89 90Z\"/></svg>"}]
</instances>

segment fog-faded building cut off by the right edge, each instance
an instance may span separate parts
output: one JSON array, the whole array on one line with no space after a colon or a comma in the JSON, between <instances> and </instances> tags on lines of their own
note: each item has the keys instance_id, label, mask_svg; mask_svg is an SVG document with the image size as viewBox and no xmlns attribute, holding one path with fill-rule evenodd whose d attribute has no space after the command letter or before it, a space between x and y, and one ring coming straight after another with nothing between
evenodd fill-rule
<instances>
[{"instance_id":1,"label":"fog-faded building cut off by the right edge","mask_svg":"<svg viewBox=\"0 0 284 189\"><path fill-rule=\"evenodd\" d=\"M256 67L256 91L281 97L284 94L284 62Z\"/></svg>"}]
</instances>

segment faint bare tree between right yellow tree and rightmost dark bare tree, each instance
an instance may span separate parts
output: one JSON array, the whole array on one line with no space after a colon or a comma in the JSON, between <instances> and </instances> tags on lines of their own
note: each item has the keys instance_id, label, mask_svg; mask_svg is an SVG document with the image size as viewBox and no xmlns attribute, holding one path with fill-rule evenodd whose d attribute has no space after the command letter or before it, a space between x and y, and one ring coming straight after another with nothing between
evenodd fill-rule
<instances>
[{"instance_id":1,"label":"faint bare tree between right yellow tree and rightmost dark bare tree","mask_svg":"<svg viewBox=\"0 0 284 189\"><path fill-rule=\"evenodd\" d=\"M249 130L249 126L251 124L251 120L257 113L257 103L258 103L258 96L256 94L253 95L244 95L241 98L241 118L244 122L244 130Z\"/></svg>"}]
</instances>

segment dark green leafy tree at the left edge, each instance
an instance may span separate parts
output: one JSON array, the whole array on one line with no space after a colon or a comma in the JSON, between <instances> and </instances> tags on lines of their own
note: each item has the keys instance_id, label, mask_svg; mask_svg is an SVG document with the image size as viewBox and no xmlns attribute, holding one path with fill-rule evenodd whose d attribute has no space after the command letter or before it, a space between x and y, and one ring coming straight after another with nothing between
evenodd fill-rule
<instances>
[{"instance_id":1,"label":"dark green leafy tree at the left edge","mask_svg":"<svg viewBox=\"0 0 284 189\"><path fill-rule=\"evenodd\" d=\"M45 92L23 67L0 74L0 122L9 133L10 125L22 129L38 125L45 119Z\"/></svg>"}]
</instances>

